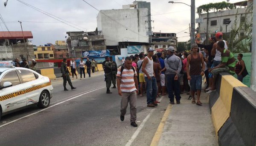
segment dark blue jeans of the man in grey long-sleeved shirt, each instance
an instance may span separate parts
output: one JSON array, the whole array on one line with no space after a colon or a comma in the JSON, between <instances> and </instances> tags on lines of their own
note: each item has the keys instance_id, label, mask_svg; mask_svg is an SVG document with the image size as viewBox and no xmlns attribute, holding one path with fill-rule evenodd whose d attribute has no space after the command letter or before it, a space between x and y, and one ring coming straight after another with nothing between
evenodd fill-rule
<instances>
[{"instance_id":1,"label":"dark blue jeans of the man in grey long-sleeved shirt","mask_svg":"<svg viewBox=\"0 0 256 146\"><path fill-rule=\"evenodd\" d=\"M168 90L168 97L171 102L174 102L174 94L176 101L180 101L180 82L179 80L174 80L175 74L166 74L167 76L167 90ZM174 89L174 94L173 94Z\"/></svg>"}]
</instances>

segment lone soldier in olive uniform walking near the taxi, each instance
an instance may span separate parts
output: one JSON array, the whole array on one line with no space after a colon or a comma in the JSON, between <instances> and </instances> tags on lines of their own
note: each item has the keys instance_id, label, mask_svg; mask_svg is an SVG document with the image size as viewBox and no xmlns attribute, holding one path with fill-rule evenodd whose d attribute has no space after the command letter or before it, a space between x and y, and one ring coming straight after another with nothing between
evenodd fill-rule
<instances>
[{"instance_id":1,"label":"lone soldier in olive uniform walking near the taxi","mask_svg":"<svg viewBox=\"0 0 256 146\"><path fill-rule=\"evenodd\" d=\"M61 73L62 73L62 78L63 78L64 91L68 91L68 89L66 88L67 82L70 85L72 90L76 89L75 87L73 87L71 80L70 80L69 71L67 69L67 59L66 58L64 58L63 62L61 63Z\"/></svg>"}]
</instances>

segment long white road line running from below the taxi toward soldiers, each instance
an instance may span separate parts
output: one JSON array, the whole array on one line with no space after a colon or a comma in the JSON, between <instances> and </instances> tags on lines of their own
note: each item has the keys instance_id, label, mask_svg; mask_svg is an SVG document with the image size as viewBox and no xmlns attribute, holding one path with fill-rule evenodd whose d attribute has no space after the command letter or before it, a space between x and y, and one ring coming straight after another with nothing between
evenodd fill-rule
<instances>
[{"instance_id":1,"label":"long white road line running from below the taxi toward soldiers","mask_svg":"<svg viewBox=\"0 0 256 146\"><path fill-rule=\"evenodd\" d=\"M72 99L75 99L75 98L77 98L77 97L80 97L80 96L82 96L82 95L84 95L84 94L88 94L88 93L97 91L97 90L102 89L102 88L105 88L105 86L104 86L104 87L101 87L101 88L98 88L98 89L94 89L94 90L92 90L92 91L90 91L90 92L85 92L85 93L82 92L83 94L80 94L80 95L78 95L78 96L76 96L76 97L73 97L74 95L73 95L73 96L70 96L70 97L73 97L73 98L69 98L69 99L64 100L64 101L62 101L62 102L60 102L60 103L56 103L56 104L54 104L54 105L52 105L52 106L47 107L46 109L42 109L42 110L38 111L38 112L34 112L34 113L29 114L29 115L26 115L26 116L24 116L24 117L20 117L20 118L18 118L18 119L16 119L16 120L13 120L13 121L11 121L11 122L5 123L5 124L1 125L0 127L9 125L10 123L16 122L16 121L21 120L21 119L23 119L23 118L25 118L25 117L29 117L29 116L35 115L35 114L37 114L37 113L39 113L39 112L43 112L43 111L45 111L45 110L47 110L47 109L49 109L49 108L52 108L52 107L54 107L54 106L57 106L57 105L61 104L61 103L67 102L67 101L69 101L69 100L72 100Z\"/></svg>"}]
</instances>

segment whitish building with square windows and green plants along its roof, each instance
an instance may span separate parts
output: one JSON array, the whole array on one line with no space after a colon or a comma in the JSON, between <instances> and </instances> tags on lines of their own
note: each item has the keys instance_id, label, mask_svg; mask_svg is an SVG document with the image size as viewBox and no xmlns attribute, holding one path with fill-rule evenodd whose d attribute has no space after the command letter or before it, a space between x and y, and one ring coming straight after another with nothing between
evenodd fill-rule
<instances>
[{"instance_id":1,"label":"whitish building with square windows and green plants along its roof","mask_svg":"<svg viewBox=\"0 0 256 146\"><path fill-rule=\"evenodd\" d=\"M236 9L230 10L220 10L215 12L199 14L198 28L199 33L203 40L211 35L214 35L217 31L222 31L223 33L229 33L233 28L238 28L240 23L244 21L251 21L252 11L248 13L248 6L253 3L253 0L246 0L238 3L233 3ZM207 23L208 21L208 23ZM236 23L235 23L236 21ZM236 25L236 26L235 26ZM244 35L244 29L239 29L239 35Z\"/></svg>"}]
</instances>

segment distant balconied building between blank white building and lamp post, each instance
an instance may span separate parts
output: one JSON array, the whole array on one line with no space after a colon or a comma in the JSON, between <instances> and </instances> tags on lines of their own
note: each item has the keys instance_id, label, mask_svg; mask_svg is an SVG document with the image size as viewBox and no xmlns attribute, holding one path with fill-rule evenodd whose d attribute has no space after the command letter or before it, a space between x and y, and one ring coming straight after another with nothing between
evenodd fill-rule
<instances>
[{"instance_id":1,"label":"distant balconied building between blank white building and lamp post","mask_svg":"<svg viewBox=\"0 0 256 146\"><path fill-rule=\"evenodd\" d=\"M177 50L177 37L175 33L154 32L152 35L152 47L157 51L166 50L173 46Z\"/></svg>"}]
</instances>

